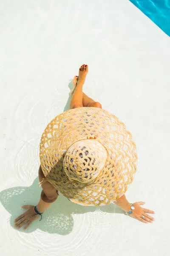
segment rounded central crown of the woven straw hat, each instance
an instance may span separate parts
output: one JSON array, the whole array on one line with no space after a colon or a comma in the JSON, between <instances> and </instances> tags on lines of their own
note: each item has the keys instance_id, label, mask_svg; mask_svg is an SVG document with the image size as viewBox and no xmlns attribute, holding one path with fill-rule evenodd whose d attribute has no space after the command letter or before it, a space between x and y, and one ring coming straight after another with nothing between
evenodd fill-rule
<instances>
[{"instance_id":1,"label":"rounded central crown of the woven straw hat","mask_svg":"<svg viewBox=\"0 0 170 256\"><path fill-rule=\"evenodd\" d=\"M81 183L94 180L105 166L107 150L97 140L81 140L72 144L64 157L66 175Z\"/></svg>"}]
</instances>

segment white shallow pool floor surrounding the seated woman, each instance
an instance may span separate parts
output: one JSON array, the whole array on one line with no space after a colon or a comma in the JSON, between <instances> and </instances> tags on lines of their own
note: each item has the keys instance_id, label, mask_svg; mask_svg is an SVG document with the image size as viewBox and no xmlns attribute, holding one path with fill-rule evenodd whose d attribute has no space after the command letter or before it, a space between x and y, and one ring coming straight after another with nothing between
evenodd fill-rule
<instances>
[{"instance_id":1,"label":"white shallow pool floor surrounding the seated woman","mask_svg":"<svg viewBox=\"0 0 170 256\"><path fill-rule=\"evenodd\" d=\"M1 0L0 10L0 255L169 256L170 37L125 0ZM146 201L156 221L60 195L42 221L17 230L21 206L40 199L41 134L68 110L84 63L84 92L136 142L127 200Z\"/></svg>"}]
</instances>

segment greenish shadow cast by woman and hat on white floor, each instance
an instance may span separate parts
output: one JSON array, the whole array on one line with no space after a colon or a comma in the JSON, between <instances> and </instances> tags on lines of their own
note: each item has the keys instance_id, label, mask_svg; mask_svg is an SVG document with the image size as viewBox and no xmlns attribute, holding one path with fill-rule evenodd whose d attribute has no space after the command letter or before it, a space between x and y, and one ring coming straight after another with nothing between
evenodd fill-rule
<instances>
[{"instance_id":1,"label":"greenish shadow cast by woman and hat on white floor","mask_svg":"<svg viewBox=\"0 0 170 256\"><path fill-rule=\"evenodd\" d=\"M24 204L36 205L39 202L42 188L37 186L38 182L39 179L37 177L29 187L18 186L0 192L0 201L5 209L11 214L10 224L12 227L14 227L14 219L26 211L25 209L22 209L21 206ZM23 227L21 227L18 231L31 233L40 229L48 233L56 233L65 236L71 233L73 229L73 214L83 214L95 211L97 211L96 215L99 215L100 212L125 214L122 209L116 207L114 204L100 207L81 206L68 201L67 198L59 194L59 197L54 204L43 213L41 221L38 221L39 219L37 219L37 221L34 221L27 230L23 230Z\"/></svg>"}]
</instances>

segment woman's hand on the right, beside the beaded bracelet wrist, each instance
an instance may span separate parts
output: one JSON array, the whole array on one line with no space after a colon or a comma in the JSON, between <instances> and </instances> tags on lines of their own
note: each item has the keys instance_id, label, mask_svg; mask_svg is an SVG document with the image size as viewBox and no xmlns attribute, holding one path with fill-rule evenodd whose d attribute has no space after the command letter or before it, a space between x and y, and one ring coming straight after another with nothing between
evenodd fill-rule
<instances>
[{"instance_id":1,"label":"woman's hand on the right, beside the beaded bracelet wrist","mask_svg":"<svg viewBox=\"0 0 170 256\"><path fill-rule=\"evenodd\" d=\"M129 216L132 218L136 218L137 220L142 221L146 224L148 224L149 222L153 223L153 221L155 221L155 219L152 216L148 215L147 213L154 214L155 212L151 211L149 209L144 209L144 208L140 207L140 205L143 205L143 204L145 204L145 202L134 203L135 209L132 210L133 213L129 214ZM142 216L144 216L144 218L142 218Z\"/></svg>"}]
</instances>

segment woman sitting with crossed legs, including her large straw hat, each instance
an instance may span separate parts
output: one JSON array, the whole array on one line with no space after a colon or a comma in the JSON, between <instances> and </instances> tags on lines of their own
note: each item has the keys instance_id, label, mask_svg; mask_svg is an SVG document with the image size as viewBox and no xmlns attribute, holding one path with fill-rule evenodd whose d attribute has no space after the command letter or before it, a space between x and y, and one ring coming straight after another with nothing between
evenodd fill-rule
<instances>
[{"instance_id":1,"label":"woman sitting with crossed legs, including her large straw hat","mask_svg":"<svg viewBox=\"0 0 170 256\"><path fill-rule=\"evenodd\" d=\"M148 213L155 212L140 206L145 202L131 204L125 197L136 172L136 145L116 116L82 92L87 73L88 65L83 64L73 79L70 109L74 111L57 116L42 134L40 201L37 206L22 207L27 211L14 220L18 229L25 225L25 230L39 215L42 218L58 191L77 204L114 203L143 223L154 221Z\"/></svg>"}]
</instances>

